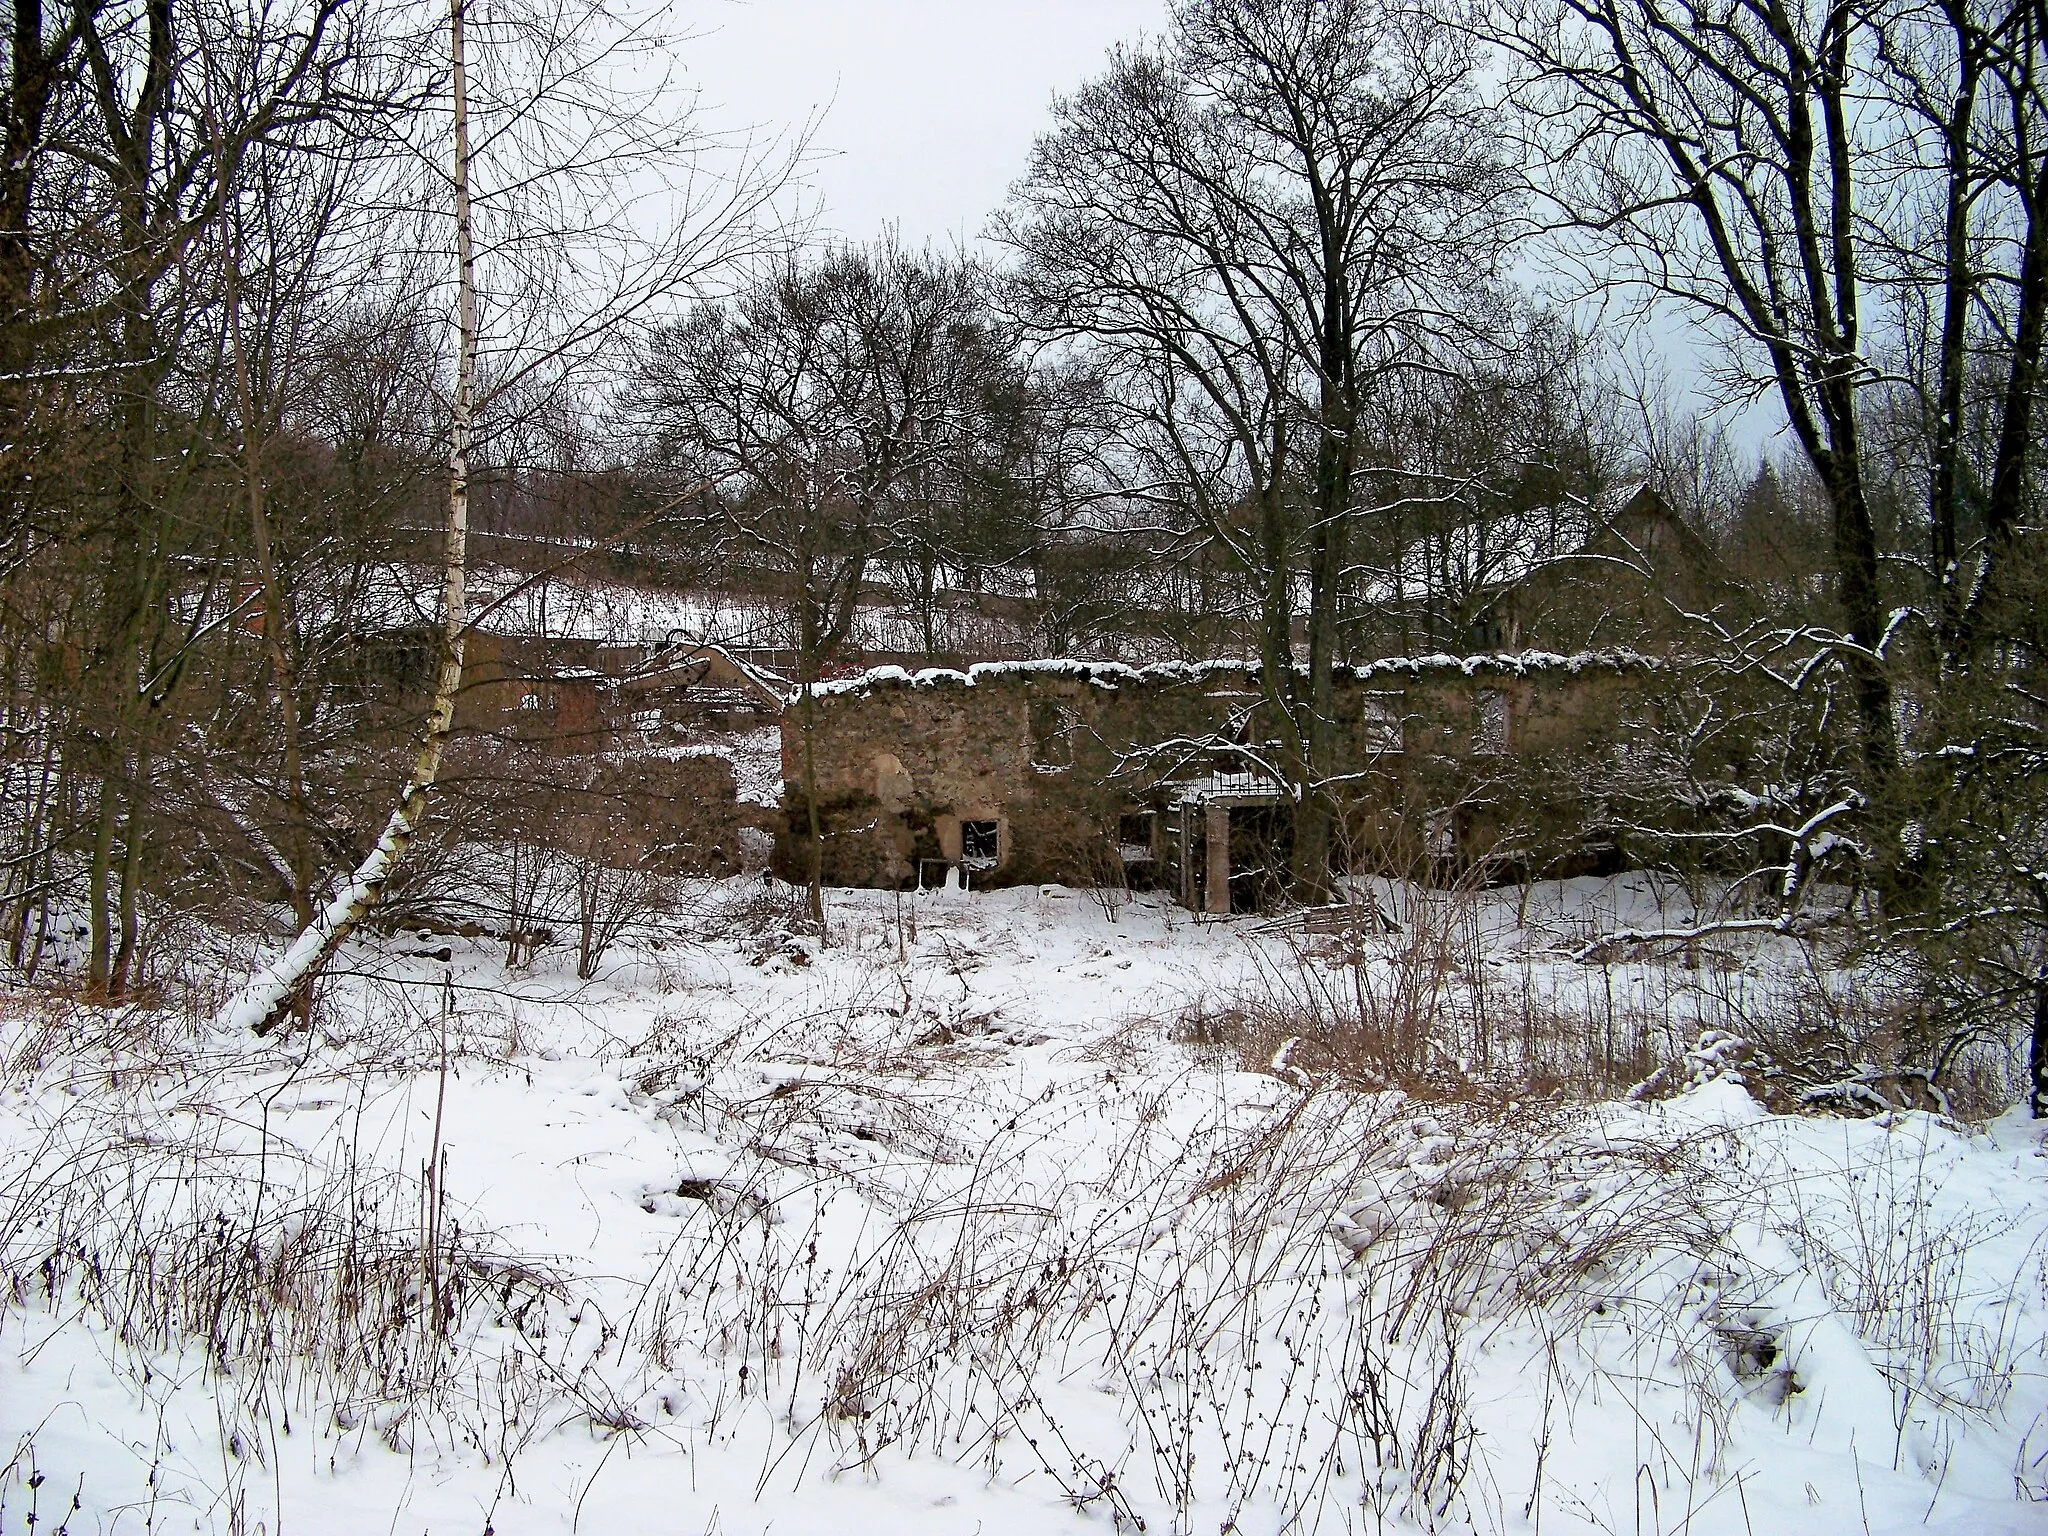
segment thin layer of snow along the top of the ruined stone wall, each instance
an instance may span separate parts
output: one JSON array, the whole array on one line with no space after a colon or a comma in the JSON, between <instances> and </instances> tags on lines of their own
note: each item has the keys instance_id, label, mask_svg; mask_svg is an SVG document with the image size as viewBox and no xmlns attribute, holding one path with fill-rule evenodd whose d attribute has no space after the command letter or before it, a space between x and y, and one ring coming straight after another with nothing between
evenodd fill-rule
<instances>
[{"instance_id":1,"label":"thin layer of snow along the top of the ruined stone wall","mask_svg":"<svg viewBox=\"0 0 2048 1536\"><path fill-rule=\"evenodd\" d=\"M1452 672L1466 678L1530 678L1544 674L1577 676L1581 672L1651 672L1663 666L1665 662L1661 657L1620 649L1575 651L1571 655L1561 655L1556 651L1448 655L1438 651L1434 655L1395 655L1356 668L1337 668L1337 676L1352 678L1356 682L1423 678L1432 674L1444 676ZM909 672L907 668L897 666L874 668L858 678L838 678L834 682L811 684L811 696L866 696L883 688L975 688L981 682L999 682L1022 676L1071 678L1075 682L1096 684L1098 688L1120 688L1126 684L1145 688L1208 682L1219 676L1251 680L1257 674L1257 662L1153 662L1151 666L1135 668L1124 662L1047 657L1040 662L979 662L965 672L956 668L924 668L922 672ZM797 688L791 694L791 702L803 698L803 688Z\"/></svg>"}]
</instances>

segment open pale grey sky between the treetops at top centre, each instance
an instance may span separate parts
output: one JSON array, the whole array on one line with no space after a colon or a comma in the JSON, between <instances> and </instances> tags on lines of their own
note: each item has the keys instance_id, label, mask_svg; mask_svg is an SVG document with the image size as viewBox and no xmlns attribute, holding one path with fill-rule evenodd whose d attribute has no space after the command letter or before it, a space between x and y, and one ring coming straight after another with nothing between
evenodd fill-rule
<instances>
[{"instance_id":1,"label":"open pale grey sky between the treetops at top centre","mask_svg":"<svg viewBox=\"0 0 2048 1536\"><path fill-rule=\"evenodd\" d=\"M1112 43L1157 33L1167 0L684 0L678 59L723 129L819 117L823 227L909 244L973 240L1024 174L1055 92Z\"/></svg>"}]
</instances>

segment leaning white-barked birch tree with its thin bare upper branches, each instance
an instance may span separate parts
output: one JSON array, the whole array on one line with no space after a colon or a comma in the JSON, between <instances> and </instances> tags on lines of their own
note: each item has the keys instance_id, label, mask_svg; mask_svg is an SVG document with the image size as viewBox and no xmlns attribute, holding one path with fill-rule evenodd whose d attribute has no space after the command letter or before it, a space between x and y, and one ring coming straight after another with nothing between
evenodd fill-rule
<instances>
[{"instance_id":1,"label":"leaning white-barked birch tree with its thin bare upper branches","mask_svg":"<svg viewBox=\"0 0 2048 1536\"><path fill-rule=\"evenodd\" d=\"M762 217L793 160L743 154L713 176L702 135L621 86L653 39L590 10L494 14L471 55L465 0L451 0L446 156L455 311L449 498L440 553L438 659L412 772L383 834L293 944L221 1012L229 1028L270 1028L377 905L424 815L463 680L471 455L492 410L573 397L664 299L758 250ZM477 84L481 100L473 104ZM678 186L645 209L635 178Z\"/></svg>"}]
</instances>

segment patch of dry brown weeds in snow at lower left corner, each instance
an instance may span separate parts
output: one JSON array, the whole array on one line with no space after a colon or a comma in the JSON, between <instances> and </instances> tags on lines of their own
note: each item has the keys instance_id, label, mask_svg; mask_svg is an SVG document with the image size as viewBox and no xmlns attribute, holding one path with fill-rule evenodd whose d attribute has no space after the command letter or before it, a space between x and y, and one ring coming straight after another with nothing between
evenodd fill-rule
<instances>
[{"instance_id":1,"label":"patch of dry brown weeds in snow at lower left corner","mask_svg":"<svg viewBox=\"0 0 2048 1536\"><path fill-rule=\"evenodd\" d=\"M82 1313L137 1368L190 1352L219 1378L236 1444L252 1454L279 1415L315 1403L342 1427L373 1421L393 1448L432 1421L494 1446L481 1425L465 1434L449 1417L461 1399L451 1389L524 1366L485 1360L469 1335L508 1327L545 1354L557 1282L434 1208L434 1186L348 1143L311 1155L207 1124L74 1104L37 1155L10 1161L0 1276L14 1325Z\"/></svg>"}]
</instances>

